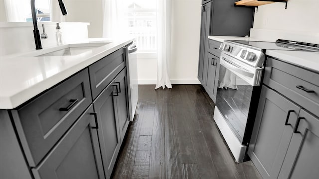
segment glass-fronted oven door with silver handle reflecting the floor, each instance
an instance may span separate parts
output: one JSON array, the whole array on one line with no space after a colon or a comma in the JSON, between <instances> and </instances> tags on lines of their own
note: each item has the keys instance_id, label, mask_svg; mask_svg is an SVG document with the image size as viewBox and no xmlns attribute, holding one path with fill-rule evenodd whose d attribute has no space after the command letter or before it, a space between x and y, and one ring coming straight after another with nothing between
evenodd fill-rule
<instances>
[{"instance_id":1,"label":"glass-fronted oven door with silver handle reflecting the floor","mask_svg":"<svg viewBox=\"0 0 319 179\"><path fill-rule=\"evenodd\" d=\"M243 141L254 86L262 68L252 67L221 53L216 106L240 142Z\"/></svg>"}]
</instances>

